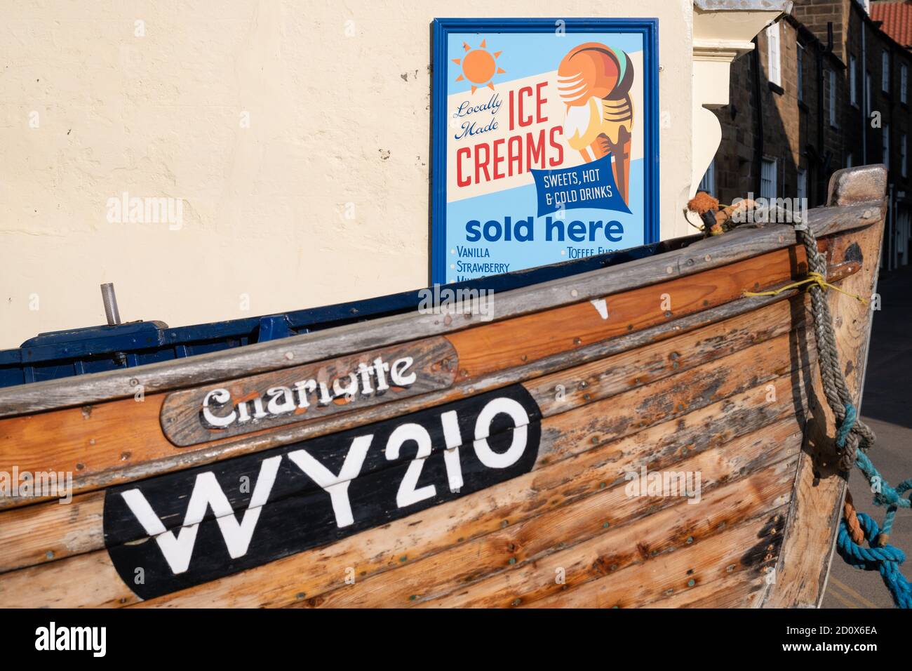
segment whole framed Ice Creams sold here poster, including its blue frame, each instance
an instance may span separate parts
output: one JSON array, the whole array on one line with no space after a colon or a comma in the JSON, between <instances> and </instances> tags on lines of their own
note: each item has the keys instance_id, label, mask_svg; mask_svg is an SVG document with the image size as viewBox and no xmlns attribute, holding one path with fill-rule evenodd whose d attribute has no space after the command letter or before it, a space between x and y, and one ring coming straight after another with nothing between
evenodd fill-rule
<instances>
[{"instance_id":1,"label":"whole framed Ice Creams sold here poster, including its blue frame","mask_svg":"<svg viewBox=\"0 0 912 671\"><path fill-rule=\"evenodd\" d=\"M434 283L658 239L657 24L435 20Z\"/></svg>"}]
</instances>

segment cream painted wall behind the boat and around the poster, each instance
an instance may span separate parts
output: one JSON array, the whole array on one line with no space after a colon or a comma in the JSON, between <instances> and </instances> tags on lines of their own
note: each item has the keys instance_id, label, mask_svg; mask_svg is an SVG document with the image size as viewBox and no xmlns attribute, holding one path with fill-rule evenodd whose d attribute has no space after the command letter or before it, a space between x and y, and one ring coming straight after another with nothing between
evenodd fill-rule
<instances>
[{"instance_id":1,"label":"cream painted wall behind the boat and around the poster","mask_svg":"<svg viewBox=\"0 0 912 671\"><path fill-rule=\"evenodd\" d=\"M658 16L662 235L689 233L691 0L5 0L0 349L103 323L102 282L171 326L424 286L430 21L559 15ZM109 223L123 192L181 228Z\"/></svg>"}]
</instances>

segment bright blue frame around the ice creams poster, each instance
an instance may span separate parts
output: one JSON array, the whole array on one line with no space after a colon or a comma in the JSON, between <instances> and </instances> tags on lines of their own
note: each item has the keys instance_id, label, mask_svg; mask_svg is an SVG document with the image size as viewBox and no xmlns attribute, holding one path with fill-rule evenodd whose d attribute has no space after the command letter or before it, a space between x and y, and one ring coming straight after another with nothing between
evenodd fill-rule
<instances>
[{"instance_id":1,"label":"bright blue frame around the ice creams poster","mask_svg":"<svg viewBox=\"0 0 912 671\"><path fill-rule=\"evenodd\" d=\"M446 284L447 37L451 32L624 32L643 36L644 245L658 242L658 18L435 18L433 21L430 163L430 281Z\"/></svg>"}]
</instances>

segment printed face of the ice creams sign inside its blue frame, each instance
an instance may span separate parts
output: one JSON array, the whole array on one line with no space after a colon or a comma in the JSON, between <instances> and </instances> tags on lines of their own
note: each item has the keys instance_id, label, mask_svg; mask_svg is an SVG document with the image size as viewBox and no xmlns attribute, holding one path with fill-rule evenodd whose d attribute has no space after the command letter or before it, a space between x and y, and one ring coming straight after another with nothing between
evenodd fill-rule
<instances>
[{"instance_id":1,"label":"printed face of the ice creams sign inside its blue frame","mask_svg":"<svg viewBox=\"0 0 912 671\"><path fill-rule=\"evenodd\" d=\"M446 281L642 245L646 195L642 35L493 32L451 33L448 37ZM485 63L491 61L482 55L465 58L482 48L482 41L483 51L491 57L497 54L496 70L488 79L493 90L487 81L471 80L485 77ZM577 70L586 70L586 62L591 63L586 70L590 73L604 73L605 63L610 68L610 60L597 49L571 59L574 65L561 73L562 78L569 74L570 84L558 81L562 59L586 43L604 45L617 55L620 77L611 81L624 79L626 68L633 69L627 98L618 100L613 93L607 101L590 96L593 90L597 92L592 89L593 78L575 75ZM457 58L460 63L453 62ZM580 62L583 67L577 65ZM595 84L602 86L604 94L604 74L598 77ZM621 86L618 83L611 90ZM625 159L629 171L626 189L625 177L622 175L621 183L615 178L623 171L617 157L605 158L606 137L614 136L620 143L610 146L624 153L624 136L617 141L620 127L631 135ZM574 135L576 146L571 146L568 140ZM598 139L591 145L581 145L596 135ZM495 159L499 159L496 165ZM600 170L604 166L611 167ZM536 186L531 168L546 171L540 173L540 181L543 174L550 175L551 181L544 182L546 188L541 182ZM589 175L591 183L583 184L581 180L590 181ZM623 198L624 192L627 198ZM606 194L611 209L602 206ZM585 206L590 203L598 206ZM549 212L551 207L556 209ZM627 209L629 213L623 211ZM582 222L582 226L574 222ZM532 240L516 239L529 236L530 229ZM507 240L508 236L512 239Z\"/></svg>"}]
</instances>

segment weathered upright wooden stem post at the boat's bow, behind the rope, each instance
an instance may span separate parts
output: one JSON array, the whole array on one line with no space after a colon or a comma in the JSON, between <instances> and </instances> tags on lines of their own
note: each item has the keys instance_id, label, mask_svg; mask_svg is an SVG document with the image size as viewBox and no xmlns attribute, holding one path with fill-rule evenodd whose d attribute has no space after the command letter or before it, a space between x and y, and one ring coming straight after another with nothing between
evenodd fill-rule
<instances>
[{"instance_id":1,"label":"weathered upright wooden stem post at the boat's bow, behind the rope","mask_svg":"<svg viewBox=\"0 0 912 671\"><path fill-rule=\"evenodd\" d=\"M834 175L833 185L840 183L837 176ZM831 195L841 197L839 193L836 189ZM845 291L863 297L870 297L874 292L882 228L882 225L871 226L836 241L834 257L863 258L862 269L843 282ZM828 299L846 384L856 405L860 405L872 312L869 306L835 291L829 293ZM795 481L782 558L776 567L777 580L765 595L766 606L819 606L845 496L845 477L839 472L835 456L834 418L826 404L819 375L814 375L810 383L813 392L809 398L806 445Z\"/></svg>"}]
</instances>

